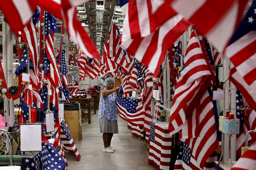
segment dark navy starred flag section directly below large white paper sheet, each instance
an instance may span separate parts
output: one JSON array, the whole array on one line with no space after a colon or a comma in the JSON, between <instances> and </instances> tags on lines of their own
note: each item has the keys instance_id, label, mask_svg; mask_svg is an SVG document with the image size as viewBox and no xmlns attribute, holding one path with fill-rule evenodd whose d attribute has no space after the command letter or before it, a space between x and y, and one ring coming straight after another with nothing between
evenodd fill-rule
<instances>
[{"instance_id":1,"label":"dark navy starred flag section directly below large white paper sheet","mask_svg":"<svg viewBox=\"0 0 256 170\"><path fill-rule=\"evenodd\" d=\"M40 153L33 157L23 157L21 159L21 168L26 170L41 170L42 164L40 161Z\"/></svg>"}]
</instances>

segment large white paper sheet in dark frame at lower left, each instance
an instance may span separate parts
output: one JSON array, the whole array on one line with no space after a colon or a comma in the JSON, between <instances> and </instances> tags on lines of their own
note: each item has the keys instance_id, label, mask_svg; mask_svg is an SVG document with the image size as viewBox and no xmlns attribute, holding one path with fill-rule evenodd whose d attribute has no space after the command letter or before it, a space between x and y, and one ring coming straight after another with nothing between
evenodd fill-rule
<instances>
[{"instance_id":1,"label":"large white paper sheet in dark frame at lower left","mask_svg":"<svg viewBox=\"0 0 256 170\"><path fill-rule=\"evenodd\" d=\"M42 124L20 125L21 151L42 151Z\"/></svg>"}]
</instances>

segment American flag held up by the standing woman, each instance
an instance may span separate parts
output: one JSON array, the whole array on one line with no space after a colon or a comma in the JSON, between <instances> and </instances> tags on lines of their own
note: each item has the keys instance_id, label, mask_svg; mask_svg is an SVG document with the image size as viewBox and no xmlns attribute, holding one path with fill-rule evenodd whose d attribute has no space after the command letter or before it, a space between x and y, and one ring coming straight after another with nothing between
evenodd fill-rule
<instances>
[{"instance_id":1,"label":"American flag held up by the standing woman","mask_svg":"<svg viewBox=\"0 0 256 170\"><path fill-rule=\"evenodd\" d=\"M118 114L123 120L136 124L139 127L143 127L145 111L137 111L138 99L123 97L117 92L115 101L117 103Z\"/></svg>"}]
</instances>

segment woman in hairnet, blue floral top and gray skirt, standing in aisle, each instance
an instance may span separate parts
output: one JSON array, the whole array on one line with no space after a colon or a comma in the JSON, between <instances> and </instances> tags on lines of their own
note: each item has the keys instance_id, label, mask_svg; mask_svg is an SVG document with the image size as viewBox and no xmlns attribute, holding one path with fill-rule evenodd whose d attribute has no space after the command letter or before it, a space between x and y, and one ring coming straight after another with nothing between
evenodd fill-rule
<instances>
[{"instance_id":1,"label":"woman in hairnet, blue floral top and gray skirt, standing in aisle","mask_svg":"<svg viewBox=\"0 0 256 170\"><path fill-rule=\"evenodd\" d=\"M115 104L115 93L120 87L114 87L115 80L111 77L106 78L104 88L99 99L99 128L101 130L104 149L103 152L114 152L111 147L113 134L118 134L117 124L117 105Z\"/></svg>"}]
</instances>

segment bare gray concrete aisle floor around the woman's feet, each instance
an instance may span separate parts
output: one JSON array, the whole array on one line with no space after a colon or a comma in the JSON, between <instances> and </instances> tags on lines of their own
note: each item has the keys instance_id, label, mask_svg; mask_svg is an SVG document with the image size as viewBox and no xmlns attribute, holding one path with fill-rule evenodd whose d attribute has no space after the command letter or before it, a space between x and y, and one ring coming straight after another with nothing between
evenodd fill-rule
<instances>
[{"instance_id":1,"label":"bare gray concrete aisle floor around the woman's feet","mask_svg":"<svg viewBox=\"0 0 256 170\"><path fill-rule=\"evenodd\" d=\"M93 104L91 104L93 113ZM75 155L66 152L66 160L69 166L67 170L84 169L115 169L115 170L137 170L156 169L148 164L149 151L145 140L138 139L131 135L131 130L127 128L127 122L118 117L119 134L114 134L112 147L117 151L105 153L103 150L102 134L99 132L98 110L96 114L91 114L91 124L88 121L82 123L81 141L75 141L75 145L81 155L80 161L75 159Z\"/></svg>"}]
</instances>

